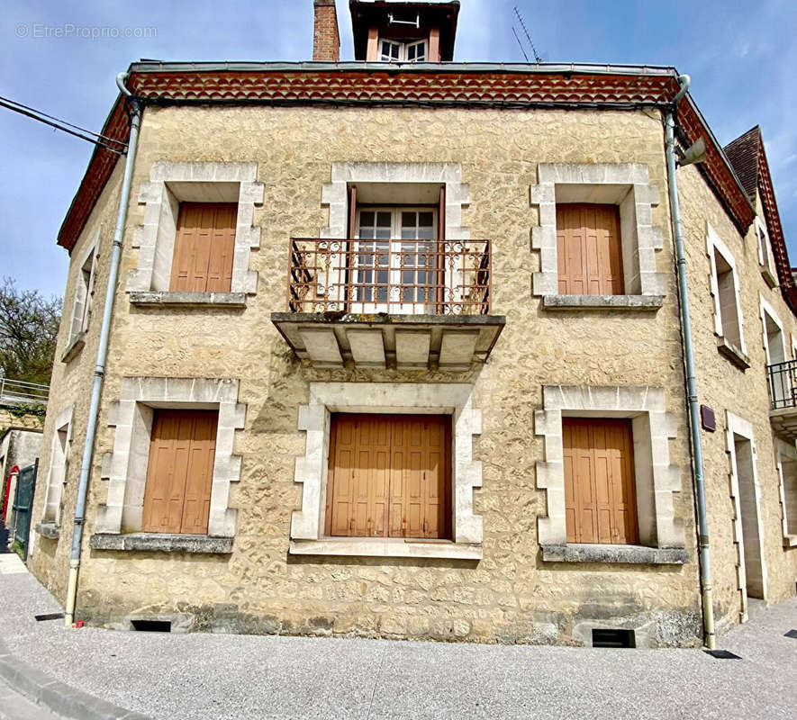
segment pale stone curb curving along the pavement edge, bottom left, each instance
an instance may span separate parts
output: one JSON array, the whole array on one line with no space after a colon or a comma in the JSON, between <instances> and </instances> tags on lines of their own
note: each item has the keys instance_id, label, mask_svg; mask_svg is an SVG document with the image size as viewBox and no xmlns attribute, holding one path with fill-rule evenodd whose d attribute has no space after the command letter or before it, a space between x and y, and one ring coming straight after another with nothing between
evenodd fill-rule
<instances>
[{"instance_id":1,"label":"pale stone curb curving along the pavement edge, bottom left","mask_svg":"<svg viewBox=\"0 0 797 720\"><path fill-rule=\"evenodd\" d=\"M151 720L93 695L70 688L19 660L0 640L0 678L33 702L56 715L75 720Z\"/></svg>"}]
</instances>

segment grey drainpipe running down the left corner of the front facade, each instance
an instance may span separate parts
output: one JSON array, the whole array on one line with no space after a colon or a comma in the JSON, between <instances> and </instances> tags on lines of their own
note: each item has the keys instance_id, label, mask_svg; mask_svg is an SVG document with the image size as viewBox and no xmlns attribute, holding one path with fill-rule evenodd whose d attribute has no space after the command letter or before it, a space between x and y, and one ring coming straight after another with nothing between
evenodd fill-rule
<instances>
[{"instance_id":1,"label":"grey drainpipe running down the left corner of the front facade","mask_svg":"<svg viewBox=\"0 0 797 720\"><path fill-rule=\"evenodd\" d=\"M97 363L94 371L94 385L91 389L91 402L88 408L86 425L86 443L83 446L83 462L80 465L80 483L77 486L77 506L75 508L75 528L72 533L72 556L69 561L69 584L67 589L67 606L65 613L66 626L71 626L75 619L75 599L77 598L77 571L80 568L80 547L83 540L83 525L86 521L86 493L88 476L91 471L92 455L97 429L97 416L100 412L100 396L103 391L105 361L108 356L108 339L111 335L111 317L113 315L113 297L119 278L119 265L122 260L122 235L127 222L127 206L130 202L133 162L136 157L136 146L139 140L141 122L141 105L130 90L125 87L127 73L116 76L116 85L127 98L131 106L130 140L127 146L127 157L124 161L124 178L122 195L119 198L119 211L116 215L116 229L113 232L113 248L111 250L111 269L108 275L108 286L105 289L105 305L103 309L103 325L100 329L100 346L97 348Z\"/></svg>"}]
</instances>

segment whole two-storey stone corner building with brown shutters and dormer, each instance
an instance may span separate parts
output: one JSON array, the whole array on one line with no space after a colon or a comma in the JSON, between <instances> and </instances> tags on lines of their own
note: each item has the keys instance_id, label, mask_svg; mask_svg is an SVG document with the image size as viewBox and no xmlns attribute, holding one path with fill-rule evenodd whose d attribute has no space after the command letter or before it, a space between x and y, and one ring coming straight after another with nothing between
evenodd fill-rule
<instances>
[{"instance_id":1,"label":"whole two-storey stone corner building with brown shutters and dormer","mask_svg":"<svg viewBox=\"0 0 797 720\"><path fill-rule=\"evenodd\" d=\"M317 62L130 67L78 617L699 644L675 69L461 65L458 3L359 0L340 63L314 5ZM760 135L723 153L688 94L677 120L708 146L679 182L721 629L794 593L793 365L772 421L767 367L797 324ZM119 160L95 150L59 233L30 565L61 599Z\"/></svg>"}]
</instances>

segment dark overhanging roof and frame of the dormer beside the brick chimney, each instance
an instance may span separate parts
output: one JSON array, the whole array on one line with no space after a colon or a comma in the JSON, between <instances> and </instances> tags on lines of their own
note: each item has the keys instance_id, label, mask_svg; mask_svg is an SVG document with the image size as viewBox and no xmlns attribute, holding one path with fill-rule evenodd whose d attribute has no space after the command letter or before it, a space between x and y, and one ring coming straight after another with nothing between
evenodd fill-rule
<instances>
[{"instance_id":1,"label":"dark overhanging roof and frame of the dormer beside the brick chimney","mask_svg":"<svg viewBox=\"0 0 797 720\"><path fill-rule=\"evenodd\" d=\"M454 59L454 40L457 36L457 18L459 3L405 3L387 2L386 0L349 0L351 13L351 29L354 33L354 57L358 60L366 58L368 29L385 27L388 14L396 20L404 22L420 18L422 28L439 28L440 58L444 61ZM408 26L396 24L401 31Z\"/></svg>"}]
</instances>

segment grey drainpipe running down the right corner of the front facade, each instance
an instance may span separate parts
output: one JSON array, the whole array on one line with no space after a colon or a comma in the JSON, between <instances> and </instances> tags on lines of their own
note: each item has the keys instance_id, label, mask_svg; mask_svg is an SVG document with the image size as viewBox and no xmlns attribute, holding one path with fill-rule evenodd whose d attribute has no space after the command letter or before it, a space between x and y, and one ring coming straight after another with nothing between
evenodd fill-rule
<instances>
[{"instance_id":1,"label":"grey drainpipe running down the right corner of the front facade","mask_svg":"<svg viewBox=\"0 0 797 720\"><path fill-rule=\"evenodd\" d=\"M681 89L675 95L666 112L666 157L667 178L670 189L670 209L673 216L675 236L675 261L678 266L678 298L681 303L681 323L684 331L684 370L686 393L689 403L689 424L692 431L692 455L694 491L697 502L698 545L700 547L700 584L702 593L703 629L706 647L716 648L714 636L714 606L711 601L711 548L709 546L709 524L706 518L706 487L703 479L703 455L700 437L700 409L697 401L697 383L694 377L694 348L692 343L692 319L689 311L689 289L686 286L686 256L684 235L681 229L681 208L678 204L678 182L675 175L675 110L678 101L689 89L690 77L678 76Z\"/></svg>"}]
</instances>

